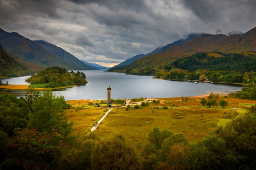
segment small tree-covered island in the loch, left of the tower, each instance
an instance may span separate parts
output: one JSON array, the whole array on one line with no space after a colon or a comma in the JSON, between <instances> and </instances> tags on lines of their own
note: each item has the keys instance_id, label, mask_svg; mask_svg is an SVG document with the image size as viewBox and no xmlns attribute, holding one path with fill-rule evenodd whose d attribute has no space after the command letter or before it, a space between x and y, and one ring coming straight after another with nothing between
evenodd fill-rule
<instances>
[{"instance_id":1,"label":"small tree-covered island in the loch, left of the tower","mask_svg":"<svg viewBox=\"0 0 256 170\"><path fill-rule=\"evenodd\" d=\"M74 84L87 83L86 76L83 72L68 72L67 69L58 66L48 67L36 74L32 74L26 81L30 82L31 85L42 84L41 87L44 88L67 87L73 86Z\"/></svg>"}]
</instances>

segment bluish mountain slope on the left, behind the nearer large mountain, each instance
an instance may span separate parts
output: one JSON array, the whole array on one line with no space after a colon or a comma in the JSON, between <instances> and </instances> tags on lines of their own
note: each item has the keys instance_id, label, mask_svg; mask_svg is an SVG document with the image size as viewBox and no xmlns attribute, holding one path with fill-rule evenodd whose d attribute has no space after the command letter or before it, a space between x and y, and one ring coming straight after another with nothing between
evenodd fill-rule
<instances>
[{"instance_id":1,"label":"bluish mountain slope on the left, behind the nearer large mountain","mask_svg":"<svg viewBox=\"0 0 256 170\"><path fill-rule=\"evenodd\" d=\"M42 47L44 47L45 49L48 49L50 52L60 56L64 60L74 63L76 65L76 67L80 68L78 70L95 70L94 67L91 67L91 66L87 65L86 63L83 63L82 61L78 60L78 58L76 58L74 55L66 52L66 50L64 50L60 47L57 47L50 43L47 43L46 41L43 41L43 40L38 40L35 42L37 44L41 45Z\"/></svg>"}]
</instances>

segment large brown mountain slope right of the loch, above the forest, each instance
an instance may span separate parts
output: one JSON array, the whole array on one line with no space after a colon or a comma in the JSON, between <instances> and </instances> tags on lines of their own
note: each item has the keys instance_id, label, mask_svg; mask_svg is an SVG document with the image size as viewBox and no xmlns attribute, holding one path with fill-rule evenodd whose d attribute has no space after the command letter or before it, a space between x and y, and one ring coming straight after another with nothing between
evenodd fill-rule
<instances>
[{"instance_id":1,"label":"large brown mountain slope right of the loch, above the forest","mask_svg":"<svg viewBox=\"0 0 256 170\"><path fill-rule=\"evenodd\" d=\"M198 38L190 39L181 45L172 45L162 53L140 58L123 68L120 66L114 67L113 70L118 72L133 70L136 72L150 68L154 69L157 73L158 71L164 71L163 67L165 65L174 62L178 58L191 56L196 53L242 53L250 51L256 51L256 27L243 35L226 36L203 33Z\"/></svg>"}]
</instances>

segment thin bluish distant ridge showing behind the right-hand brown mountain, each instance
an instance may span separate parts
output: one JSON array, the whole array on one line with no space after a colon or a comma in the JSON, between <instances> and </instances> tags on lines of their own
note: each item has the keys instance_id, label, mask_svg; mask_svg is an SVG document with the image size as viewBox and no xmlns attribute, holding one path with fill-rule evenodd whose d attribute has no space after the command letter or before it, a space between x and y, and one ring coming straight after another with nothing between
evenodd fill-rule
<instances>
[{"instance_id":1,"label":"thin bluish distant ridge showing behind the right-hand brown mountain","mask_svg":"<svg viewBox=\"0 0 256 170\"><path fill-rule=\"evenodd\" d=\"M175 41L175 42L172 43L172 44L167 44L166 46L164 46L164 47L162 47L162 48L158 47L158 48L156 48L153 52L150 52L150 53L148 53L148 54L139 54L139 55L135 55L135 56L133 56L132 58L129 58L129 59L125 60L124 62L122 62L122 63L120 63L120 64L118 64L118 65L116 65L116 66L129 65L129 64L133 63L134 61L139 60L140 58L143 58L143 57L146 57L146 56L149 56L149 55L154 55L154 54L157 54L157 53L162 53L162 52L164 52L166 49L168 49L169 47L171 47L171 46L173 46L173 45L179 46L179 45L185 43L185 42L188 41L188 40L191 40L191 39L195 39L195 38L200 37L202 34L203 34L203 33L191 34L191 35L189 35L188 38L186 38L186 39L180 39L180 40L178 40L178 41ZM114 67L116 67L116 66L114 66Z\"/></svg>"}]
</instances>

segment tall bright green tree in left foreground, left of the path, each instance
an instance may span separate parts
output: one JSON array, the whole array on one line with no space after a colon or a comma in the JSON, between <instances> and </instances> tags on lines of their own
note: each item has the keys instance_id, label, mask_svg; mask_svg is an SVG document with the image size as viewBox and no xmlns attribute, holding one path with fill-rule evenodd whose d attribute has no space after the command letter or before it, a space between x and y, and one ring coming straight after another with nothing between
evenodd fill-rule
<instances>
[{"instance_id":1,"label":"tall bright green tree in left foreground, left of the path","mask_svg":"<svg viewBox=\"0 0 256 170\"><path fill-rule=\"evenodd\" d=\"M50 89L33 102L33 112L29 113L30 126L38 131L50 132L54 127L59 133L67 136L71 133L73 122L68 123L63 109L63 98L55 97Z\"/></svg>"}]
</instances>

